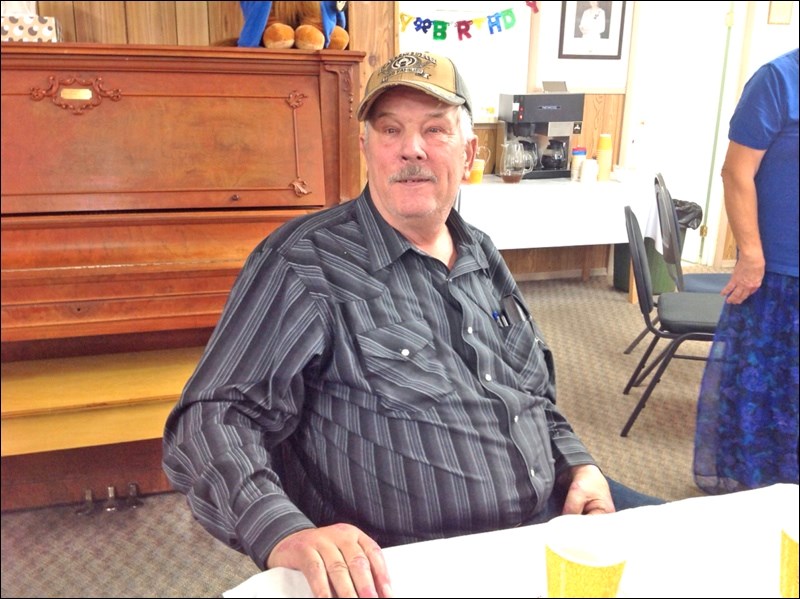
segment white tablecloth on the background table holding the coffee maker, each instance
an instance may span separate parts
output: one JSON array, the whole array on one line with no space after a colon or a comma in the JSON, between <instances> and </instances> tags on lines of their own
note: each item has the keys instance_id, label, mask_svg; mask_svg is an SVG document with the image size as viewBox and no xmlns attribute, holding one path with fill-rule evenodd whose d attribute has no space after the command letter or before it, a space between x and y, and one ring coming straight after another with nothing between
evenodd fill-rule
<instances>
[{"instance_id":1,"label":"white tablecloth on the background table holding the coffee maker","mask_svg":"<svg viewBox=\"0 0 800 599\"><path fill-rule=\"evenodd\" d=\"M653 177L627 173L623 182L579 183L530 179L461 186L457 204L464 219L487 233L498 249L570 247L628 243L625 206L661 248Z\"/></svg>"}]
</instances>

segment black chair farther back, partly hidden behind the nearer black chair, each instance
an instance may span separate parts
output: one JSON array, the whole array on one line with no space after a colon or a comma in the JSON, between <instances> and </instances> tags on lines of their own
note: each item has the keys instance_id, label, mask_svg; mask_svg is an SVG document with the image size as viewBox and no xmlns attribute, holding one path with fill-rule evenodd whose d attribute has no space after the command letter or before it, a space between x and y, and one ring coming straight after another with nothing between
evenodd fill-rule
<instances>
[{"instance_id":1,"label":"black chair farther back, partly hidden behind the nearer black chair","mask_svg":"<svg viewBox=\"0 0 800 599\"><path fill-rule=\"evenodd\" d=\"M653 184L658 207L658 224L661 228L661 255L664 258L669 276L675 282L675 288L678 291L688 291L690 293L720 293L722 288L728 284L730 274L716 272L683 273L683 268L681 267L683 243L675 203L672 201L672 195L669 193L661 173L656 175ZM656 303L658 302L656 301ZM648 330L645 328L631 341L623 353L631 353L639 342L647 336L647 333Z\"/></svg>"}]
</instances>

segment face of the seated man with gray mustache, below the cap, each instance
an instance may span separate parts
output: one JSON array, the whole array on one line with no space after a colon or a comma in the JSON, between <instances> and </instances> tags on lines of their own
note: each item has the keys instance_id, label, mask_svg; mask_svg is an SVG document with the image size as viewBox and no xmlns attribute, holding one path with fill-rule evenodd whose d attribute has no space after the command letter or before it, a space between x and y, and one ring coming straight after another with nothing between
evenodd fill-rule
<instances>
[{"instance_id":1,"label":"face of the seated man with gray mustache, below the cap","mask_svg":"<svg viewBox=\"0 0 800 599\"><path fill-rule=\"evenodd\" d=\"M407 87L375 101L361 136L369 189L386 221L401 231L441 224L475 156L459 108Z\"/></svg>"}]
</instances>

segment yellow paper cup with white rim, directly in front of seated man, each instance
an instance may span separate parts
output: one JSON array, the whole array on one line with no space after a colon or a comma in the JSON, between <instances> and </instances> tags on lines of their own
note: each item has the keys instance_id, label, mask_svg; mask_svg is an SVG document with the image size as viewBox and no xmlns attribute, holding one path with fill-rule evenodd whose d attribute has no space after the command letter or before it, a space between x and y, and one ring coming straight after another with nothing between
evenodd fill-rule
<instances>
[{"instance_id":1,"label":"yellow paper cup with white rim, directly in front of seated man","mask_svg":"<svg viewBox=\"0 0 800 599\"><path fill-rule=\"evenodd\" d=\"M559 516L545 543L548 597L616 597L625 558L603 516Z\"/></svg>"}]
</instances>

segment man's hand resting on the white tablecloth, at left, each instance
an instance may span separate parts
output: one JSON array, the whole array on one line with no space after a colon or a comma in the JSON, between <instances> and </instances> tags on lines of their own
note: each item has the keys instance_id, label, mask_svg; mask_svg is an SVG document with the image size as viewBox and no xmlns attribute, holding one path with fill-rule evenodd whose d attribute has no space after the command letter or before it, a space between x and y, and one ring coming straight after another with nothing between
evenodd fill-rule
<instances>
[{"instance_id":1,"label":"man's hand resting on the white tablecloth, at left","mask_svg":"<svg viewBox=\"0 0 800 599\"><path fill-rule=\"evenodd\" d=\"M393 597L381 548L350 524L291 534L266 565L300 570L314 597Z\"/></svg>"}]
</instances>

